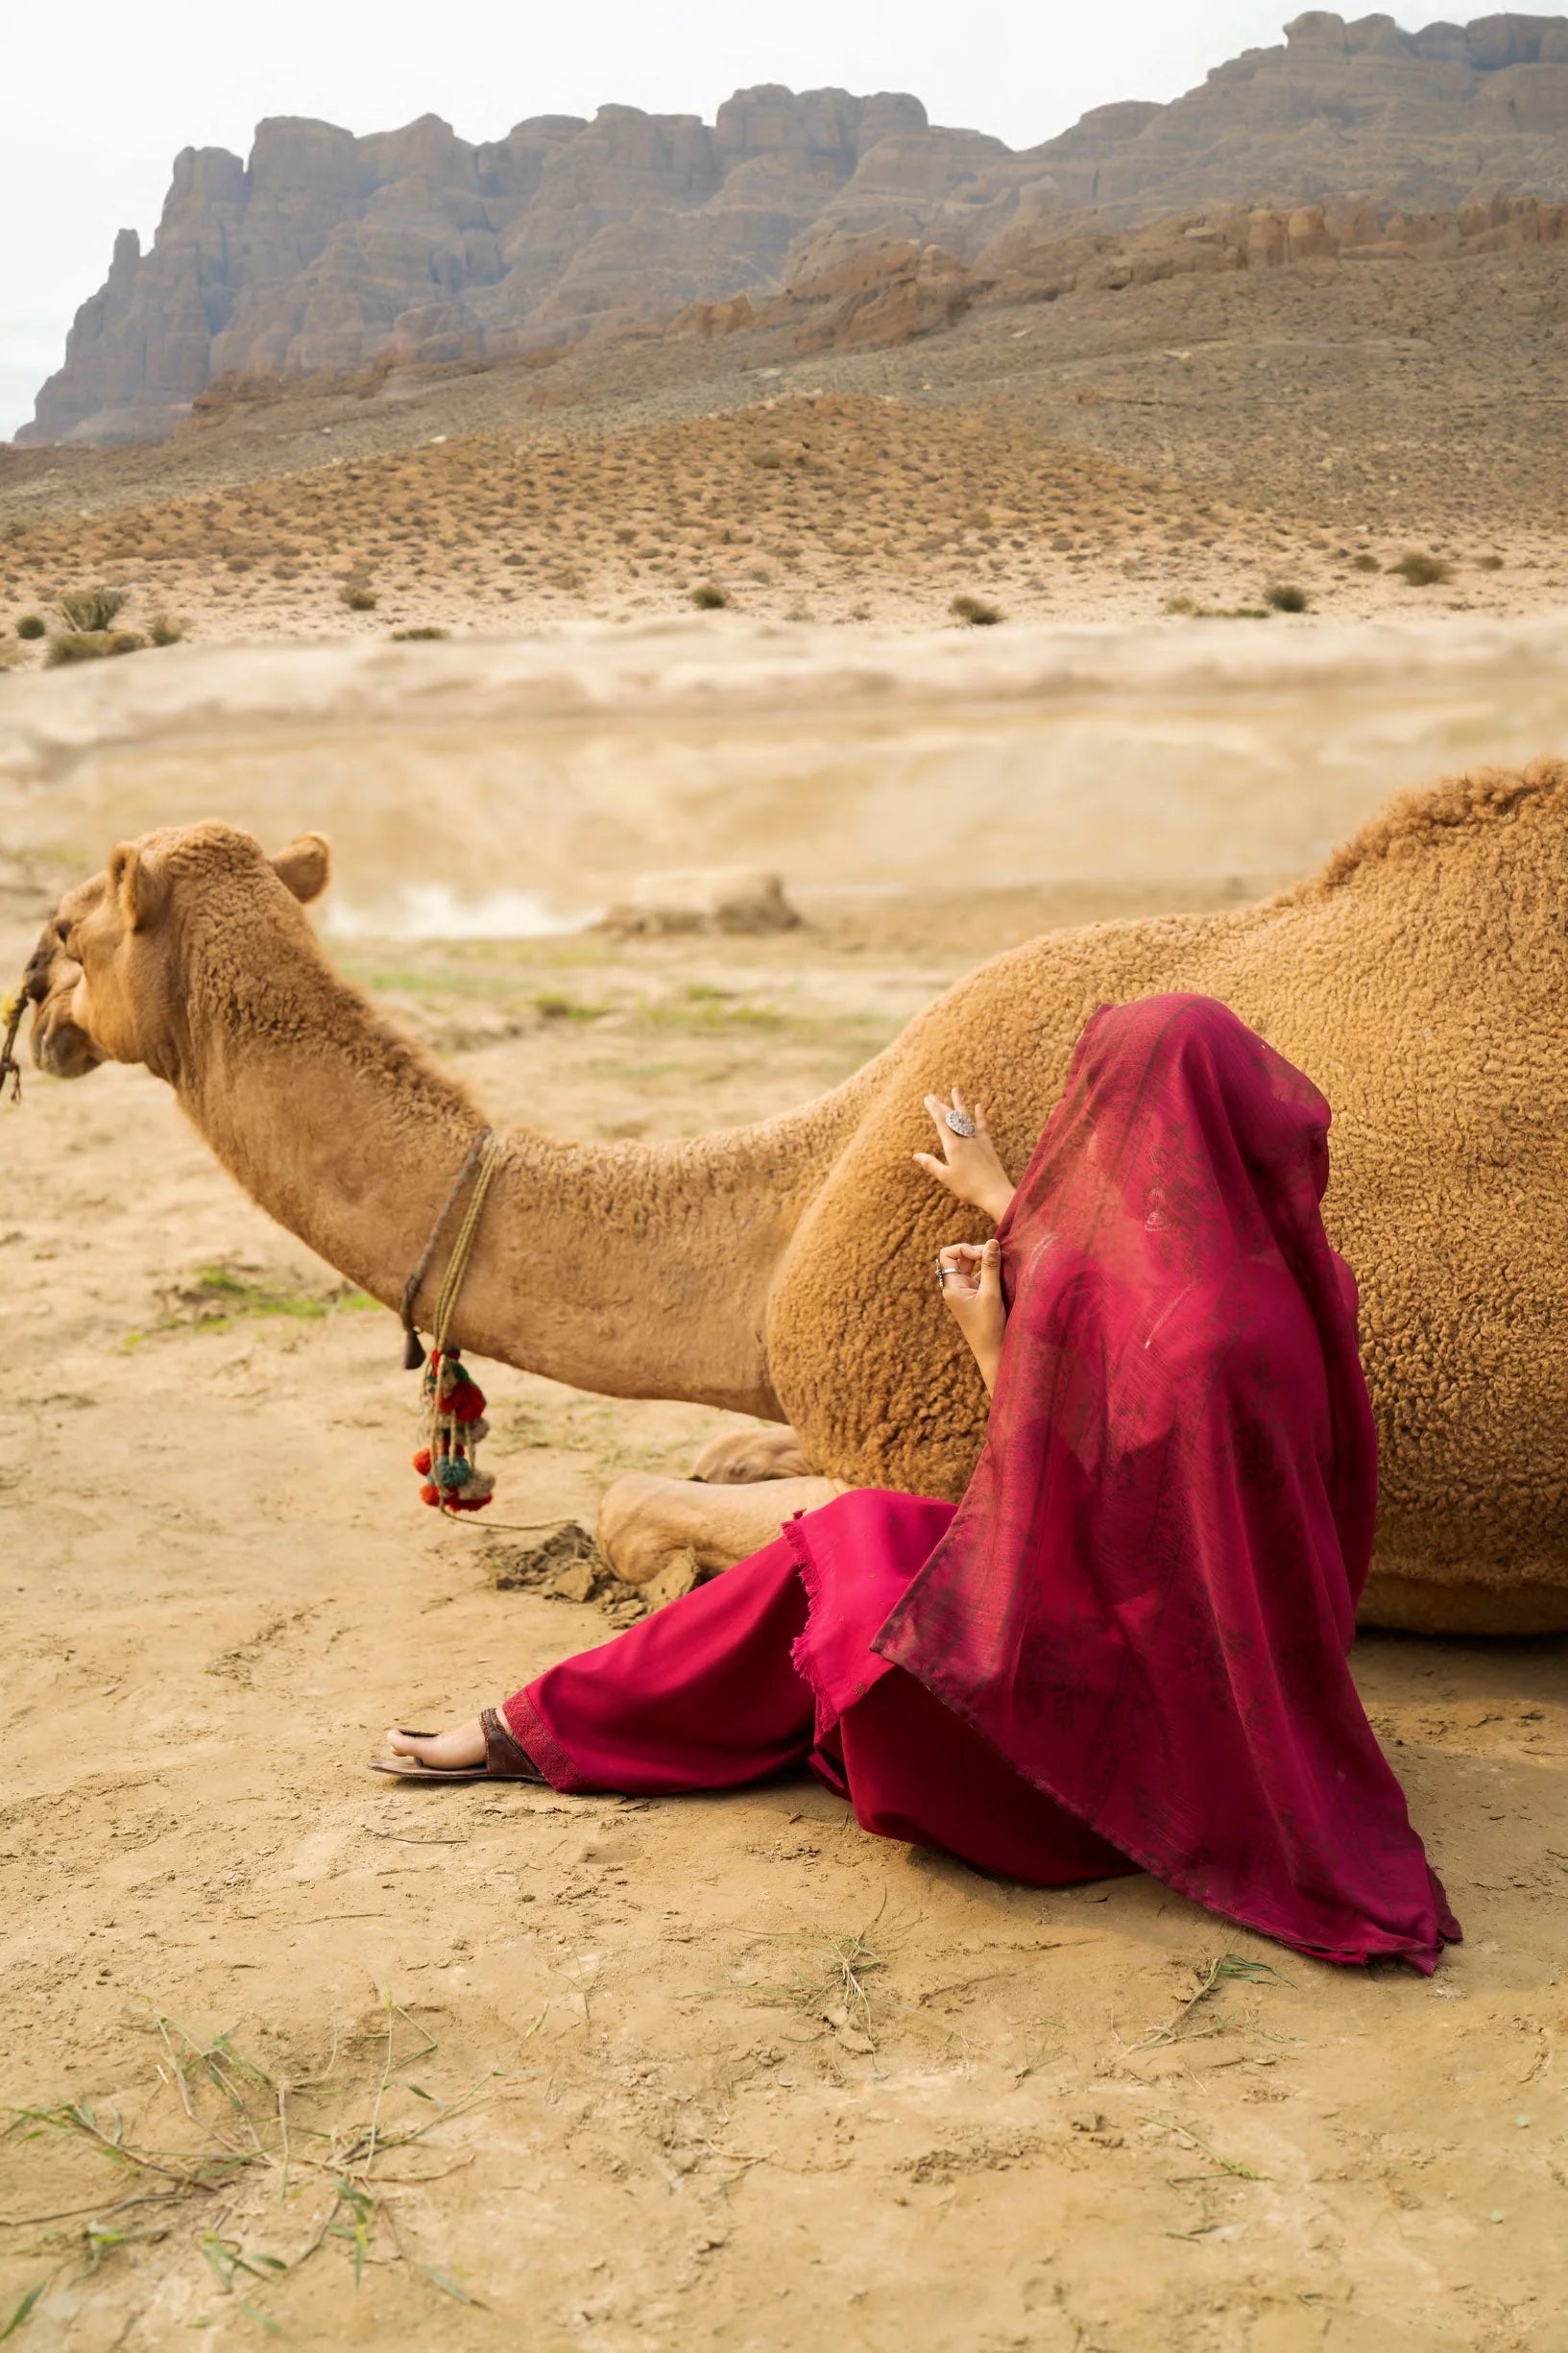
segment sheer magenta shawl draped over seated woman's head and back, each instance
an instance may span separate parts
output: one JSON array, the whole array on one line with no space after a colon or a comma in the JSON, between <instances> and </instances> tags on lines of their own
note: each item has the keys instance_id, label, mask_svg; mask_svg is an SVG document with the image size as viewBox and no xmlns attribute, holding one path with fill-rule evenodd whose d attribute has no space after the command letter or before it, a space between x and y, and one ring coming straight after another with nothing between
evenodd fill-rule
<instances>
[{"instance_id":1,"label":"sheer magenta shawl draped over seated woman's head and back","mask_svg":"<svg viewBox=\"0 0 1568 2353\"><path fill-rule=\"evenodd\" d=\"M1347 1668L1375 1511L1328 1104L1100 1007L999 1240L985 1449L875 1649L1157 1878L1326 1960L1458 1939Z\"/></svg>"}]
</instances>

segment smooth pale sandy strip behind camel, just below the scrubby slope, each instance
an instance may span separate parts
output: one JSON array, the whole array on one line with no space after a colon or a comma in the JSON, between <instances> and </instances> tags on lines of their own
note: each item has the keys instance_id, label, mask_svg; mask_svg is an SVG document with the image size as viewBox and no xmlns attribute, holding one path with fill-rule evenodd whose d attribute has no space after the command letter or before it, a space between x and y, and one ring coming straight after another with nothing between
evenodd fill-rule
<instances>
[{"instance_id":1,"label":"smooth pale sandy strip behind camel, just below the scrubby slope","mask_svg":"<svg viewBox=\"0 0 1568 2353\"><path fill-rule=\"evenodd\" d=\"M541 929L649 868L769 866L889 920L1044 892L1027 936L1081 887L1107 913L1258 894L1399 786L1568 753L1561 647L1561 609L181 645L0 687L0 849L63 875L158 824L322 828L339 934Z\"/></svg>"}]
</instances>

